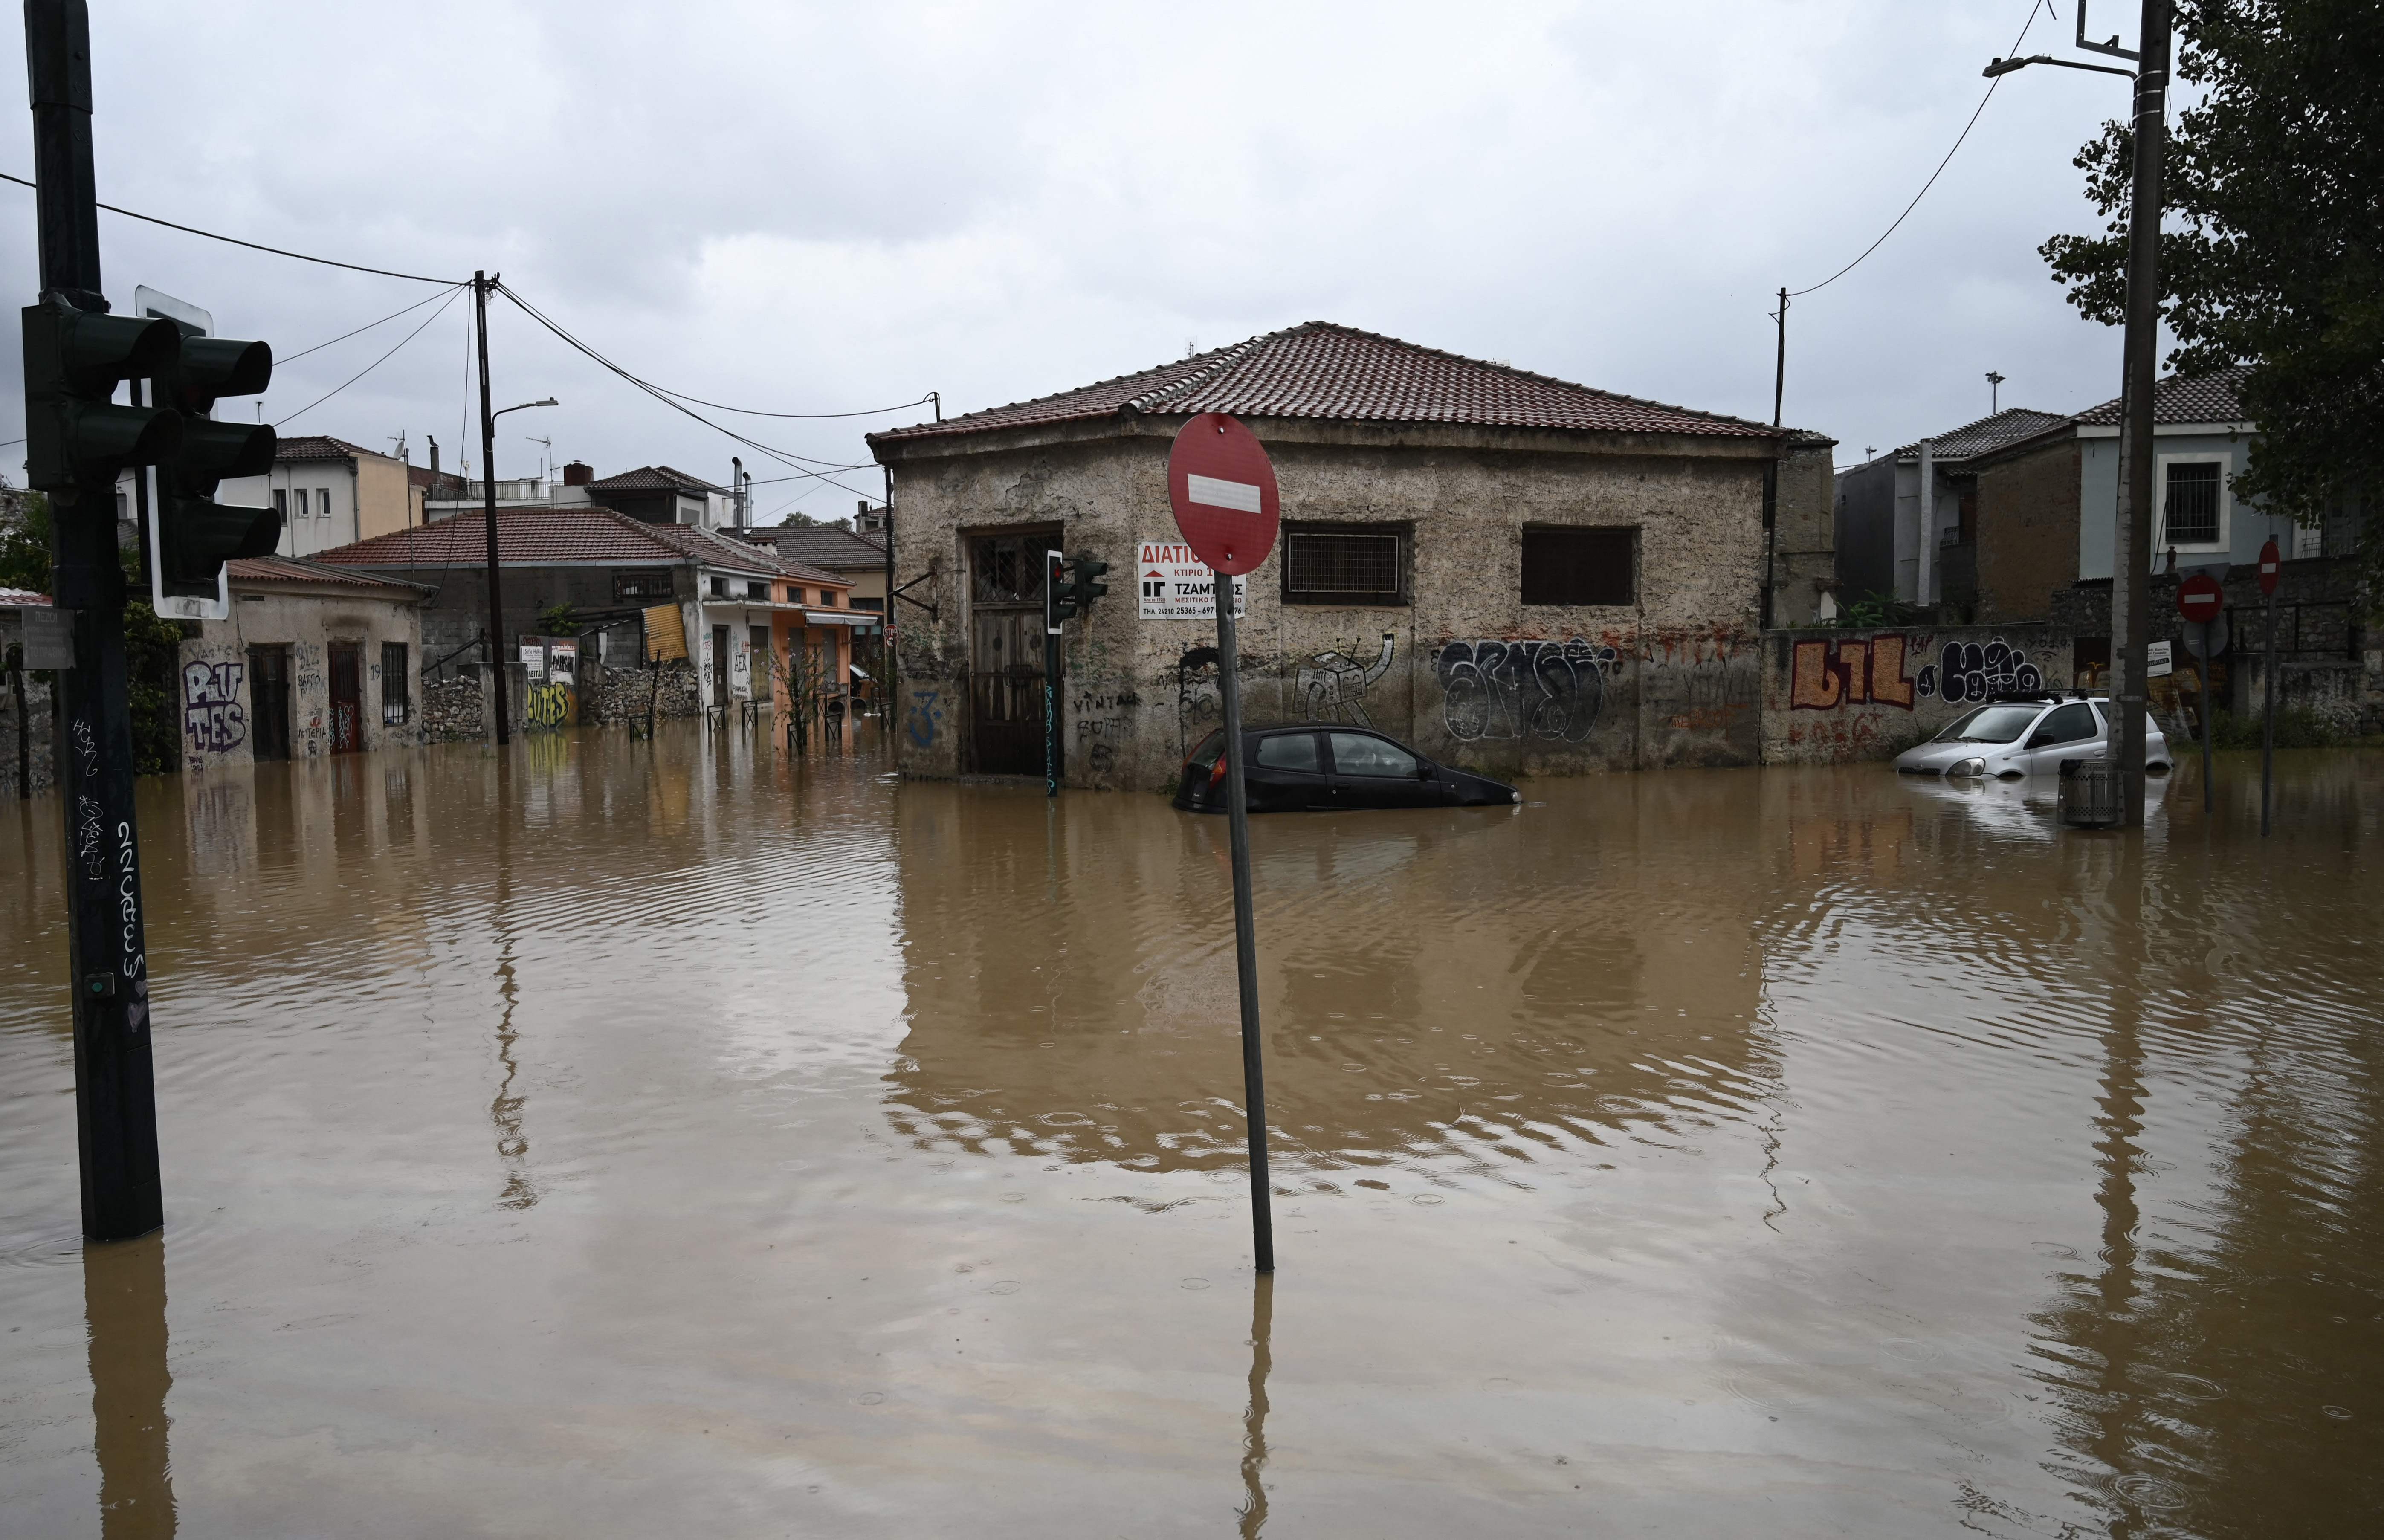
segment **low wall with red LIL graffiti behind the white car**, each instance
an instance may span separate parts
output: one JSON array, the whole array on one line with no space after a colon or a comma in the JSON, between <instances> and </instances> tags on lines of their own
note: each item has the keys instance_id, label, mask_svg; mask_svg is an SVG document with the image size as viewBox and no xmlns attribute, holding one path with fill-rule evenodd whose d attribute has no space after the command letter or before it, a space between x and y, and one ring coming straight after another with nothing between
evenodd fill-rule
<instances>
[{"instance_id":1,"label":"low wall with red LIL graffiti behind the white car","mask_svg":"<svg viewBox=\"0 0 2384 1540\"><path fill-rule=\"evenodd\" d=\"M1807 629L1764 637L1764 763L1893 758L1986 696L2067 689L2053 627Z\"/></svg>"}]
</instances>

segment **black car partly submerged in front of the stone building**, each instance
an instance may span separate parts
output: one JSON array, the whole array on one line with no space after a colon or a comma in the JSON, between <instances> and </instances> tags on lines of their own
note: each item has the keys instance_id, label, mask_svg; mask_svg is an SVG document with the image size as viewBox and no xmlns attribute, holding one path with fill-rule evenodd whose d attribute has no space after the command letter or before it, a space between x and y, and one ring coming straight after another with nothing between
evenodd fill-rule
<instances>
[{"instance_id":1,"label":"black car partly submerged in front of the stone building","mask_svg":"<svg viewBox=\"0 0 2384 1540\"><path fill-rule=\"evenodd\" d=\"M1435 765L1371 727L1292 722L1242 729L1242 782L1252 813L1309 808L1492 808L1523 801L1507 782ZM1225 732L1211 732L1185 758L1175 806L1225 811Z\"/></svg>"}]
</instances>

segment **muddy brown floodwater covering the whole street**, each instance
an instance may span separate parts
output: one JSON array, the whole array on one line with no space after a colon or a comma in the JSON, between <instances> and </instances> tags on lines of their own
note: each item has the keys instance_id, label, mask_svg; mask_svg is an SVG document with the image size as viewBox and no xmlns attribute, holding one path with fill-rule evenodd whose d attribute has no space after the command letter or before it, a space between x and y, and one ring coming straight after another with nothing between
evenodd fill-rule
<instances>
[{"instance_id":1,"label":"muddy brown floodwater covering the whole street","mask_svg":"<svg viewBox=\"0 0 2384 1540\"><path fill-rule=\"evenodd\" d=\"M737 734L143 787L167 1228L0 808L0 1530L2348 1535L2384 756L1225 827Z\"/></svg>"}]
</instances>

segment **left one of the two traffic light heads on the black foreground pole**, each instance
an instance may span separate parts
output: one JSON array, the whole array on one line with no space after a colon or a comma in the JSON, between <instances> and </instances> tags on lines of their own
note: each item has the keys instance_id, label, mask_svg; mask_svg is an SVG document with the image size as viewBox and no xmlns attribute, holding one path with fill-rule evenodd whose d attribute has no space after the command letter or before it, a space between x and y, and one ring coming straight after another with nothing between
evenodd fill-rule
<instances>
[{"instance_id":1,"label":"left one of the two traffic light heads on the black foreground pole","mask_svg":"<svg viewBox=\"0 0 2384 1540\"><path fill-rule=\"evenodd\" d=\"M172 367L179 346L174 322L76 310L62 298L26 305L26 484L112 493L126 465L172 460L181 448L181 412L114 405L114 396L126 379Z\"/></svg>"}]
</instances>

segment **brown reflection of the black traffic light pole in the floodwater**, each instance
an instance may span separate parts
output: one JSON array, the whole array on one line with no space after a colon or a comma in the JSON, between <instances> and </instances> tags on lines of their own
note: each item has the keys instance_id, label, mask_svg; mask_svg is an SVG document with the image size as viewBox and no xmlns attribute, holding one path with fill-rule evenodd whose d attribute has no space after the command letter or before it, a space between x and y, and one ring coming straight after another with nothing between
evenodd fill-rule
<instances>
[{"instance_id":1,"label":"brown reflection of the black traffic light pole in the floodwater","mask_svg":"<svg viewBox=\"0 0 2384 1540\"><path fill-rule=\"evenodd\" d=\"M100 1535L162 1540L174 1533L167 1461L164 1235L83 1244L83 1321L91 1328L91 1445L100 1459Z\"/></svg>"}]
</instances>

